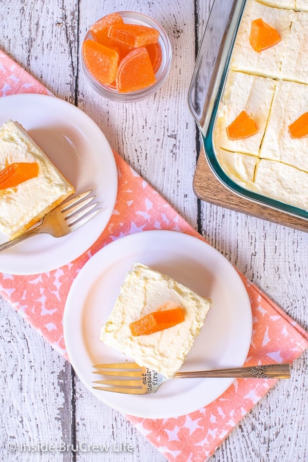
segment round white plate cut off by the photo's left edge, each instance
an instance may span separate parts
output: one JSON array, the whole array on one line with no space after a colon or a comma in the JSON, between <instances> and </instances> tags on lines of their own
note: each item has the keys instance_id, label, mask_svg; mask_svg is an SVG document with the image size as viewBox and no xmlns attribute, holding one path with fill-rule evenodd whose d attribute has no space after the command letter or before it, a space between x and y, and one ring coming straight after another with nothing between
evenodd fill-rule
<instances>
[{"instance_id":1,"label":"round white plate cut off by the photo's left edge","mask_svg":"<svg viewBox=\"0 0 308 462\"><path fill-rule=\"evenodd\" d=\"M66 101L43 94L0 98L0 125L9 119L29 131L76 193L93 189L102 206L99 214L68 236L41 234L1 252L3 273L44 273L79 257L103 232L117 198L117 167L101 129ZM7 237L0 233L0 243L6 241Z\"/></svg>"}]
</instances>

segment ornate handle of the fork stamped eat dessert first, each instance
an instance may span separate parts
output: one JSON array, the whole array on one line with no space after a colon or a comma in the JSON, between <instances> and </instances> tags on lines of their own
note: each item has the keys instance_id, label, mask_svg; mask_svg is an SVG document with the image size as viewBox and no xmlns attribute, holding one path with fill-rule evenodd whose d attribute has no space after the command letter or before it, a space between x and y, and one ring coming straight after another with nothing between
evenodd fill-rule
<instances>
[{"instance_id":1,"label":"ornate handle of the fork stamped eat dessert first","mask_svg":"<svg viewBox=\"0 0 308 462\"><path fill-rule=\"evenodd\" d=\"M213 371L177 372L174 378L184 377L242 377L242 378L290 378L290 364L262 364L252 367L216 369Z\"/></svg>"}]
</instances>

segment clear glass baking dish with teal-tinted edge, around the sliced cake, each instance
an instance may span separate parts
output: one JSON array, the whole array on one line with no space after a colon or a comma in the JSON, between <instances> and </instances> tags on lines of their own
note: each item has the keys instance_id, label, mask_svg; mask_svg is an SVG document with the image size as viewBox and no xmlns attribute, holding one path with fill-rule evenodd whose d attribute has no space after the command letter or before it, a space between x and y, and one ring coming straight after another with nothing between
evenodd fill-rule
<instances>
[{"instance_id":1,"label":"clear glass baking dish with teal-tinted edge, around the sliced cake","mask_svg":"<svg viewBox=\"0 0 308 462\"><path fill-rule=\"evenodd\" d=\"M221 168L213 146L213 128L246 0L215 0L192 75L188 106L201 133L205 157L214 176L234 194L249 201L308 220L308 210L244 188Z\"/></svg>"}]
</instances>

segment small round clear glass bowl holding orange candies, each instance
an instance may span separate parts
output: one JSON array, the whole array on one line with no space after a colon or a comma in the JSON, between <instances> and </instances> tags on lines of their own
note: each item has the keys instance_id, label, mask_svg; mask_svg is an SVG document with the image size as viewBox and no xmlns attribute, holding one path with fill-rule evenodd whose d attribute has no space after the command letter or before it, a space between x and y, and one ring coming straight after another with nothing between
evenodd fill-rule
<instances>
[{"instance_id":1,"label":"small round clear glass bowl holding orange candies","mask_svg":"<svg viewBox=\"0 0 308 462\"><path fill-rule=\"evenodd\" d=\"M141 90L120 93L117 89L110 88L108 85L103 85L97 79L95 79L85 65L83 56L81 58L82 68L91 87L94 88L94 90L96 90L100 95L102 95L102 97L107 98L110 101L118 102L140 101L155 93L167 78L172 59L170 40L162 26L149 16L134 11L119 11L118 14L122 16L124 23L152 27L159 31L160 36L158 43L162 50L162 63L155 74L156 82L153 85L150 85L149 87L143 88ZM90 30L88 30L86 33L84 41L88 40L89 38L92 38Z\"/></svg>"}]
</instances>

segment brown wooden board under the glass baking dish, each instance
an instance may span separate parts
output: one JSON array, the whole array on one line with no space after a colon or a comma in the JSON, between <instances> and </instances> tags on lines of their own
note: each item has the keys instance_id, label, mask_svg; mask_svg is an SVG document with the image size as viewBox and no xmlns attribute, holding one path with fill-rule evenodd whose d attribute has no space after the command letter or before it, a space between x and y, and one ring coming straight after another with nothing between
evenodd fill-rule
<instances>
[{"instance_id":1,"label":"brown wooden board under the glass baking dish","mask_svg":"<svg viewBox=\"0 0 308 462\"><path fill-rule=\"evenodd\" d=\"M307 220L256 204L229 191L211 172L203 149L199 155L193 186L196 196L203 201L308 232Z\"/></svg>"}]
</instances>

